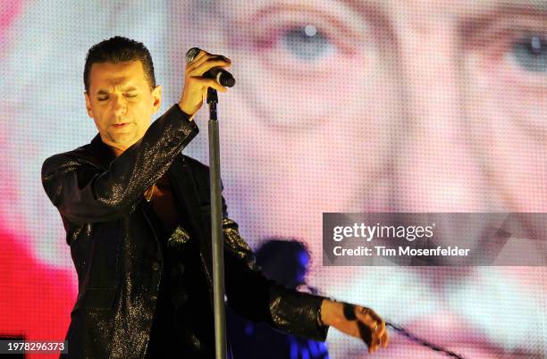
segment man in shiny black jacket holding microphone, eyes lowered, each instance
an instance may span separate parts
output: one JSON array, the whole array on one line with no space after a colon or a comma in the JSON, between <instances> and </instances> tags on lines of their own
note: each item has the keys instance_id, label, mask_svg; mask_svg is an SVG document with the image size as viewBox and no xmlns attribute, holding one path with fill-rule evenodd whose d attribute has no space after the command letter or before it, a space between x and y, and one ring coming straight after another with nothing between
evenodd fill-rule
<instances>
[{"instance_id":1,"label":"man in shiny black jacket holding microphone, eyes lowered","mask_svg":"<svg viewBox=\"0 0 547 359\"><path fill-rule=\"evenodd\" d=\"M202 75L230 65L201 51L186 66L179 103L150 123L162 89L147 48L115 37L89 49L85 98L98 134L42 167L78 273L69 357L214 356L208 168L181 150L198 134L193 115L207 88L227 91ZM387 345L385 322L371 309L266 280L226 213L223 204L234 311L318 340L333 326L365 340L369 352Z\"/></svg>"}]
</instances>

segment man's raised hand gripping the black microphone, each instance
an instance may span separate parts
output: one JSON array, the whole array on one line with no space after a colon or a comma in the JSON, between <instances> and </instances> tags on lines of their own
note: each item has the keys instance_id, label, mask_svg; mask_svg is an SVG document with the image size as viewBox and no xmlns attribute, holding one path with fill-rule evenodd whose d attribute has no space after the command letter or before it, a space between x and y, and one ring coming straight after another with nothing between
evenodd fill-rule
<instances>
[{"instance_id":1,"label":"man's raised hand gripping the black microphone","mask_svg":"<svg viewBox=\"0 0 547 359\"><path fill-rule=\"evenodd\" d=\"M219 85L215 79L205 79L203 74L214 67L230 67L231 61L220 54L209 54L201 50L191 62L186 64L184 88L182 89L181 110L190 116L197 113L207 95L207 88L215 88L220 92L228 91Z\"/></svg>"}]
</instances>

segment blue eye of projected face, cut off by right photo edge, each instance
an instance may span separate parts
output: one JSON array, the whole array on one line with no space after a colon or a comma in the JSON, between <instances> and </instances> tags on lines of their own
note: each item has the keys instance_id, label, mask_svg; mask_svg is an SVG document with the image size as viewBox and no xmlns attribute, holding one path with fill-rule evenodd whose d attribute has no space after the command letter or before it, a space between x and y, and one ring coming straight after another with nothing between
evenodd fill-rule
<instances>
[{"instance_id":1,"label":"blue eye of projected face, cut off by right photo edge","mask_svg":"<svg viewBox=\"0 0 547 359\"><path fill-rule=\"evenodd\" d=\"M513 45L511 55L524 71L547 72L547 37L531 35L521 38Z\"/></svg>"}]
</instances>

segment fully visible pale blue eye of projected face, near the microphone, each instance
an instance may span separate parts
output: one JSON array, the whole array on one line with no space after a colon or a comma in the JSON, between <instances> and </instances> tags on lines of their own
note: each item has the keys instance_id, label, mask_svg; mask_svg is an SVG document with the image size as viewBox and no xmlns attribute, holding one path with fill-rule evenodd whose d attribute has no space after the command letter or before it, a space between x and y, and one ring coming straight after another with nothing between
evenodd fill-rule
<instances>
[{"instance_id":1,"label":"fully visible pale blue eye of projected face, near the microphone","mask_svg":"<svg viewBox=\"0 0 547 359\"><path fill-rule=\"evenodd\" d=\"M257 13L241 23L242 36L235 40L250 46L276 76L294 81L333 76L333 66L355 60L369 39L368 22L360 17L355 26L334 11L299 5Z\"/></svg>"}]
</instances>

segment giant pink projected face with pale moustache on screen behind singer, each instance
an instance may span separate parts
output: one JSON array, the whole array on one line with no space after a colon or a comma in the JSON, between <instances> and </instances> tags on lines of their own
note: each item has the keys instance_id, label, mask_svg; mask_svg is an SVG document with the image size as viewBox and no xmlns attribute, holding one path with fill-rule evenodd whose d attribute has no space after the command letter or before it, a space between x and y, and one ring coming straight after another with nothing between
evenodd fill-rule
<instances>
[{"instance_id":1,"label":"giant pink projected face with pale moustache on screen behind singer","mask_svg":"<svg viewBox=\"0 0 547 359\"><path fill-rule=\"evenodd\" d=\"M179 31L237 59L220 104L223 178L246 238L304 238L318 256L325 212L547 209L544 2L215 5L216 17L185 9ZM316 268L327 293L473 357L543 352L544 276ZM432 355L394 343L388 357Z\"/></svg>"}]
</instances>

